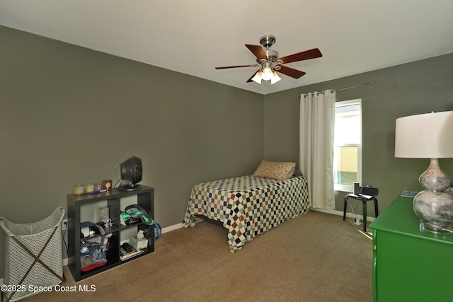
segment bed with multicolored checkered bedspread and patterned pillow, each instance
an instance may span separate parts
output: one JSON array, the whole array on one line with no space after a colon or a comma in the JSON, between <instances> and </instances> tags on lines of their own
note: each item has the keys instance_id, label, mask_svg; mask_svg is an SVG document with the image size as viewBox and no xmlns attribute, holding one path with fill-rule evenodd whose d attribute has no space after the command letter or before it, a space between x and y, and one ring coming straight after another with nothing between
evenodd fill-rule
<instances>
[{"instance_id":1,"label":"bed with multicolored checkered bedspread and patterned pillow","mask_svg":"<svg viewBox=\"0 0 453 302\"><path fill-rule=\"evenodd\" d=\"M268 167L264 173L263 163ZM253 175L193 186L183 226L195 226L197 216L217 221L228 230L229 250L235 252L265 231L308 212L306 179L301 173L294 175L295 163L275 173L276 163L285 162L263 160Z\"/></svg>"}]
</instances>

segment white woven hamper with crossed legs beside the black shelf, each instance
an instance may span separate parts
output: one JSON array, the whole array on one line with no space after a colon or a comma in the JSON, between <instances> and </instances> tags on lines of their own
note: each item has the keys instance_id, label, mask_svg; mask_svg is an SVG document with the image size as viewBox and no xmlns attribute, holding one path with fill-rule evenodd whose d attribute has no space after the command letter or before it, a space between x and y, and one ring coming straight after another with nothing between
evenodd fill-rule
<instances>
[{"instance_id":1,"label":"white woven hamper with crossed legs beside the black shelf","mask_svg":"<svg viewBox=\"0 0 453 302\"><path fill-rule=\"evenodd\" d=\"M35 223L13 223L0 217L0 226L7 235L4 284L19 289L2 292L5 301L17 301L35 294L30 286L55 286L64 280L63 218L62 207Z\"/></svg>"}]
</instances>

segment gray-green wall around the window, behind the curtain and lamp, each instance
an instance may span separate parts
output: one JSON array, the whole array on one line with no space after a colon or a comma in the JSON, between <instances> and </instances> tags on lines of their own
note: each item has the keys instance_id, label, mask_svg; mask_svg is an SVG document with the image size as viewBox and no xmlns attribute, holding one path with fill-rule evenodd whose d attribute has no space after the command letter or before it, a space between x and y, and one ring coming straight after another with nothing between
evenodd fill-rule
<instances>
[{"instance_id":1,"label":"gray-green wall around the window, behind the curtain and lamp","mask_svg":"<svg viewBox=\"0 0 453 302\"><path fill-rule=\"evenodd\" d=\"M398 117L453 110L453 54L402 64L342 79L316 83L265 95L265 158L299 161L299 100L309 91L374 85L336 93L337 101L362 99L362 184L379 188L379 211L403 190L423 190L418 176L428 159L394 157L395 120ZM445 138L453 139L453 137ZM453 177L453 159L440 159ZM336 209L343 211L345 192L336 192ZM362 214L362 206L357 207ZM374 216L370 204L367 214Z\"/></svg>"}]
</instances>

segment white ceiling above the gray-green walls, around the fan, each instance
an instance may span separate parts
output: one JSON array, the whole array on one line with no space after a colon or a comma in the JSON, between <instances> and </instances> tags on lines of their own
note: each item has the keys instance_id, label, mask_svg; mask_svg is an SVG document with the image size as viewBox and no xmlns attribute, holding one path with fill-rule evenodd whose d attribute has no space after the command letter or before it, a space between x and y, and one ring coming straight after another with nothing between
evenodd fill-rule
<instances>
[{"instance_id":1,"label":"white ceiling above the gray-green walls, around the fan","mask_svg":"<svg viewBox=\"0 0 453 302\"><path fill-rule=\"evenodd\" d=\"M453 52L452 0L0 0L0 25L268 94ZM244 44L275 35L300 79L262 85ZM371 80L371 79L370 79Z\"/></svg>"}]
</instances>

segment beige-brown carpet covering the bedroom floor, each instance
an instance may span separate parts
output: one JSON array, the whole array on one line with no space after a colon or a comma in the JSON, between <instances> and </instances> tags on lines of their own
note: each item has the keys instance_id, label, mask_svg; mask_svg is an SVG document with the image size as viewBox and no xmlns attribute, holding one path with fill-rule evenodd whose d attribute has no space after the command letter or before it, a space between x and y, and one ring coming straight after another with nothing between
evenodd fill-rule
<instances>
[{"instance_id":1,"label":"beige-brown carpet covering the bedroom floor","mask_svg":"<svg viewBox=\"0 0 453 302\"><path fill-rule=\"evenodd\" d=\"M341 216L310 211L242 250L202 221L164 233L156 251L25 301L372 301L372 240ZM69 274L69 275L68 275ZM81 292L79 286L94 286Z\"/></svg>"}]
</instances>

